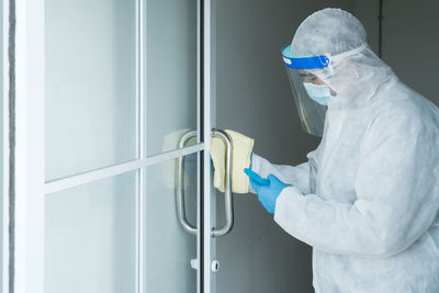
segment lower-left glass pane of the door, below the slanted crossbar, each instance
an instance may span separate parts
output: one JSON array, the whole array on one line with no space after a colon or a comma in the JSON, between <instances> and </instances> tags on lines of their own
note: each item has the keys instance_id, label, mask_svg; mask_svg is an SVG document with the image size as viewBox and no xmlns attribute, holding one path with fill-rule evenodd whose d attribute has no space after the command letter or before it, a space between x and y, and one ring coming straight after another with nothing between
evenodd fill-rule
<instances>
[{"instance_id":1,"label":"lower-left glass pane of the door, below the slanted crossbar","mask_svg":"<svg viewBox=\"0 0 439 293\"><path fill-rule=\"evenodd\" d=\"M134 172L46 195L46 293L135 292Z\"/></svg>"}]
</instances>

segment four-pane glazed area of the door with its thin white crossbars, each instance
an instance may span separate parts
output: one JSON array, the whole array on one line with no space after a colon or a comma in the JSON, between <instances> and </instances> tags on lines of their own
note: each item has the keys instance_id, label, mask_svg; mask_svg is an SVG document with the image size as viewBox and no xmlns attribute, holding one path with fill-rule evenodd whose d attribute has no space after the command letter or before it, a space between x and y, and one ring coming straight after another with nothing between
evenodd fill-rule
<instances>
[{"instance_id":1,"label":"four-pane glazed area of the door with its thin white crossbars","mask_svg":"<svg viewBox=\"0 0 439 293\"><path fill-rule=\"evenodd\" d=\"M45 293L200 290L200 10L45 0Z\"/></svg>"}]
</instances>

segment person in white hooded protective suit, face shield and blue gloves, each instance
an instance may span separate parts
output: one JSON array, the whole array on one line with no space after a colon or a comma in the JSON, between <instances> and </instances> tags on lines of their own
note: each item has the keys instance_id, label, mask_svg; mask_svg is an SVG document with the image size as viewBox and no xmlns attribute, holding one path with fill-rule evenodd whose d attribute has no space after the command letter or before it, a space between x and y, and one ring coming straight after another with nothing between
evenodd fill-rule
<instances>
[{"instance_id":1,"label":"person in white hooded protective suit, face shield and blue gloves","mask_svg":"<svg viewBox=\"0 0 439 293\"><path fill-rule=\"evenodd\" d=\"M313 247L316 292L439 292L439 110L373 54L346 11L308 16L282 55L302 125L322 142L291 167L250 159L249 139L232 179L248 187L244 168L268 178L250 190Z\"/></svg>"}]
</instances>

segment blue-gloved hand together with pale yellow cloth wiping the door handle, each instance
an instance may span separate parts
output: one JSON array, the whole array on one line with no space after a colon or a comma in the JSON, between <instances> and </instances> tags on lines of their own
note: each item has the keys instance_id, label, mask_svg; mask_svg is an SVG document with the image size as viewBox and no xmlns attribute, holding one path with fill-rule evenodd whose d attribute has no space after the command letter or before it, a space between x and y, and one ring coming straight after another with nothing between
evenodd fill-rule
<instances>
[{"instance_id":1,"label":"blue-gloved hand together with pale yellow cloth wiping the door handle","mask_svg":"<svg viewBox=\"0 0 439 293\"><path fill-rule=\"evenodd\" d=\"M275 176L269 174L267 179L250 169L251 153L255 140L240 133L225 131L232 140L232 191L234 193L248 193L250 183L263 207L270 214L274 213L275 200L288 184ZM214 187L225 191L225 156L226 145L219 137L213 137L211 157L215 168Z\"/></svg>"}]
</instances>

